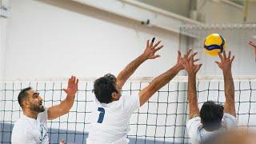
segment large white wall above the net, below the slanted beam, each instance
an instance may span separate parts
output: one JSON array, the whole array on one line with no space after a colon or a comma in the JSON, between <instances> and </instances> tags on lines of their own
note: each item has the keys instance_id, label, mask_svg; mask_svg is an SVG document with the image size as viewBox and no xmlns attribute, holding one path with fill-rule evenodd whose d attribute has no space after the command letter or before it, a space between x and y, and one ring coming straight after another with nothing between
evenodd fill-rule
<instances>
[{"instance_id":1,"label":"large white wall above the net, below the slanted beam","mask_svg":"<svg viewBox=\"0 0 256 144\"><path fill-rule=\"evenodd\" d=\"M178 34L66 0L11 0L10 7L6 78L117 74L154 36L165 45L162 58L146 62L134 76L156 76L176 60Z\"/></svg>"}]
</instances>

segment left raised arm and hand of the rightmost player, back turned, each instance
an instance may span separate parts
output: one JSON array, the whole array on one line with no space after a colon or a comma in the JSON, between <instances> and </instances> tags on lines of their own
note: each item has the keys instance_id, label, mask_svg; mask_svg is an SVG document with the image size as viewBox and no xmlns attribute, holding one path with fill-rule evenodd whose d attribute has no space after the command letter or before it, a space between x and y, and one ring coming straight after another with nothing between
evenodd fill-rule
<instances>
[{"instance_id":1,"label":"left raised arm and hand of the rightmost player, back turned","mask_svg":"<svg viewBox=\"0 0 256 144\"><path fill-rule=\"evenodd\" d=\"M190 118L194 118L200 115L196 90L196 74L198 73L198 70L201 68L202 64L194 64L194 58L190 57L182 59L182 66L185 68L188 75L187 97L190 106Z\"/></svg>"}]
</instances>

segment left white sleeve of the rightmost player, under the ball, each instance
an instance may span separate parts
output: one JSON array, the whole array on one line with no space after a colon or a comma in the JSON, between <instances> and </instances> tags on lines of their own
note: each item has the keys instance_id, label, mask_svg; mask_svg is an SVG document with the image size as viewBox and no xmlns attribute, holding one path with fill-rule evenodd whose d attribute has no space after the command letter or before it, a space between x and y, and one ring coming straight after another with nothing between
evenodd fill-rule
<instances>
[{"instance_id":1,"label":"left white sleeve of the rightmost player, under the ball","mask_svg":"<svg viewBox=\"0 0 256 144\"><path fill-rule=\"evenodd\" d=\"M193 138L198 133L198 127L200 126L201 118L195 117L191 118L188 122L186 122L186 130L187 134L189 134L190 138Z\"/></svg>"}]
</instances>

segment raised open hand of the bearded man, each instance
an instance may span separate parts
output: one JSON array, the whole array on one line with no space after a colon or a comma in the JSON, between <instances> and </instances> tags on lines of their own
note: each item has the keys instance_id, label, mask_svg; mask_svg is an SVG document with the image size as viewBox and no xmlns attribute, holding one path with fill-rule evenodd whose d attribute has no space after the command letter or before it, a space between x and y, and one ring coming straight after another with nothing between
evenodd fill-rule
<instances>
[{"instance_id":1,"label":"raised open hand of the bearded man","mask_svg":"<svg viewBox=\"0 0 256 144\"><path fill-rule=\"evenodd\" d=\"M74 76L71 76L71 78L69 78L67 88L63 90L65 91L67 96L74 97L74 95L78 91L78 79L75 78Z\"/></svg>"}]
</instances>

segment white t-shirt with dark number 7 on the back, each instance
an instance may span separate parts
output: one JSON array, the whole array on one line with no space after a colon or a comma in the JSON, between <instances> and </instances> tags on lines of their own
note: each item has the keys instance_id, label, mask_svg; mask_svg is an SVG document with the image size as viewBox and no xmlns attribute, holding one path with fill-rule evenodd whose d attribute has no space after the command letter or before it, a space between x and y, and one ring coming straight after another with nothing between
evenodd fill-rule
<instances>
[{"instance_id":1,"label":"white t-shirt with dark number 7 on the back","mask_svg":"<svg viewBox=\"0 0 256 144\"><path fill-rule=\"evenodd\" d=\"M134 110L138 110L138 96L122 96L118 101L102 104L97 101L92 113L88 144L125 144L129 142L129 120Z\"/></svg>"}]
</instances>

